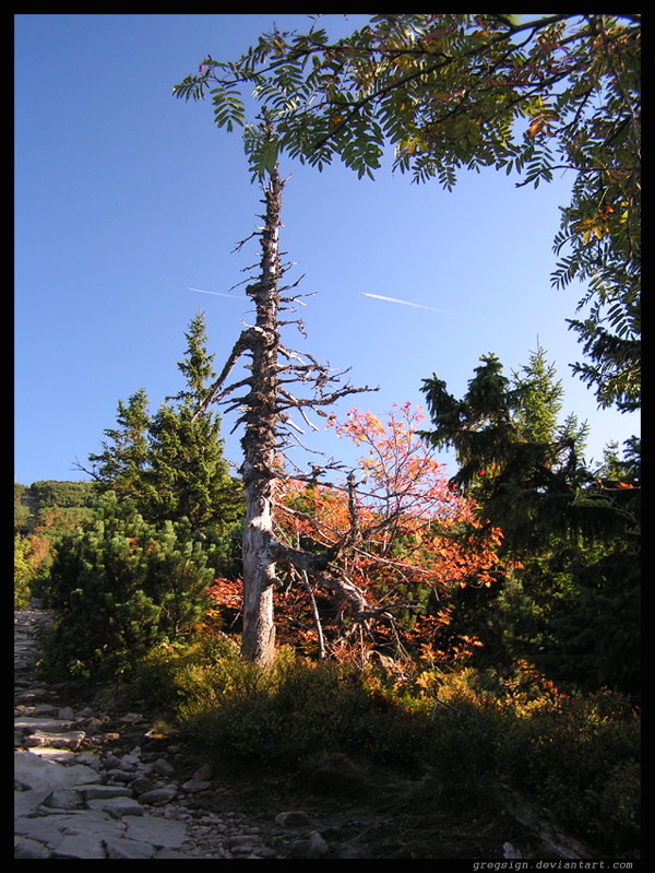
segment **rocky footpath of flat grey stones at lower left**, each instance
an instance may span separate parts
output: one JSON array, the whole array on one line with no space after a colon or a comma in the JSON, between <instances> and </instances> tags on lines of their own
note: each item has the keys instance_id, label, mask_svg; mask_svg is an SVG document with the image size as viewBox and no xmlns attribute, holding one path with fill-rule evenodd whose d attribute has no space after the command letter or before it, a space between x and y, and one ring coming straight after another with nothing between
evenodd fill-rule
<instances>
[{"instance_id":1,"label":"rocky footpath of flat grey stones at lower left","mask_svg":"<svg viewBox=\"0 0 655 873\"><path fill-rule=\"evenodd\" d=\"M307 814L281 810L265 834L213 811L209 764L157 739L139 712L70 705L66 686L35 677L39 610L14 615L15 858L319 858L327 847Z\"/></svg>"}]
</instances>

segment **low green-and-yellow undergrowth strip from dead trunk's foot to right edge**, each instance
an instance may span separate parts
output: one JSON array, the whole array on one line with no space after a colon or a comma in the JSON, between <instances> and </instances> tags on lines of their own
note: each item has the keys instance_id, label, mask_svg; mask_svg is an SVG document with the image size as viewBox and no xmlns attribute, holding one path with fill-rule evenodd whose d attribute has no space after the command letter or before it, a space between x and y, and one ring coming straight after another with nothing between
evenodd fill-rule
<instances>
[{"instance_id":1,"label":"low green-and-yellow undergrowth strip from dead trunk's foot to right edge","mask_svg":"<svg viewBox=\"0 0 655 873\"><path fill-rule=\"evenodd\" d=\"M511 784L598 857L638 857L640 720L620 693L565 694L526 663L503 682L474 668L402 680L288 647L261 670L219 634L158 647L129 694L210 754L296 772L337 753L429 775L432 801L479 811L493 804L496 786ZM347 797L347 770L343 782Z\"/></svg>"}]
</instances>

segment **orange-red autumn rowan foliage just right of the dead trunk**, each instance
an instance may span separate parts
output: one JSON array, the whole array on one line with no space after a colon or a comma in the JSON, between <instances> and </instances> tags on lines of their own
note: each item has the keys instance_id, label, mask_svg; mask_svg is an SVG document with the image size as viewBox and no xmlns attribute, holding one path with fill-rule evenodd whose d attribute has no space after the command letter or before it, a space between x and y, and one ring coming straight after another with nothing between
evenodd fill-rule
<instances>
[{"instance_id":1,"label":"orange-red autumn rowan foliage just right of the dead trunk","mask_svg":"<svg viewBox=\"0 0 655 873\"><path fill-rule=\"evenodd\" d=\"M492 585L501 534L466 535L477 524L472 502L450 487L419 438L421 418L409 403L384 423L357 409L344 421L331 417L338 436L362 449L357 470L333 484L278 479L275 536L289 548L332 554L340 593L348 594L335 598L332 578L311 565L281 567L275 602L285 642L358 662L419 651L437 661L446 649L463 656L477 644L464 633L452 638L449 601L462 586ZM229 587L222 593L234 607Z\"/></svg>"}]
</instances>

